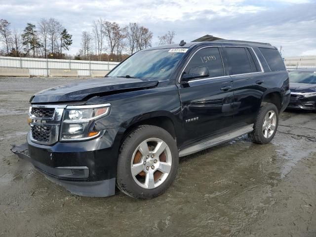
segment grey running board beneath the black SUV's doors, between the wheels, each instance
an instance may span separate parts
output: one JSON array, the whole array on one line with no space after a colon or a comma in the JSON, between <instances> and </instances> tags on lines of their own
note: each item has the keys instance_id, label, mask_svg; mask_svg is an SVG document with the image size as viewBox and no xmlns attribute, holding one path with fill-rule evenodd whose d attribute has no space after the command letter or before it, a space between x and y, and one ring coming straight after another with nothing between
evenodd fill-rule
<instances>
[{"instance_id":1,"label":"grey running board beneath the black SUV's doors, between the wheels","mask_svg":"<svg viewBox=\"0 0 316 237\"><path fill-rule=\"evenodd\" d=\"M225 135L210 139L210 140L206 140L206 141L202 141L196 145L193 145L191 147L185 148L184 150L179 152L179 157L184 157L184 156L188 156L191 155L193 153L205 150L207 148L210 147L214 147L216 145L219 145L221 143L227 142L229 140L232 140L234 138L237 138L243 134L249 133L253 131L253 124L247 125L245 127L242 127L236 131L227 133Z\"/></svg>"}]
</instances>

